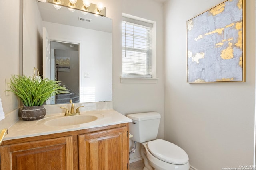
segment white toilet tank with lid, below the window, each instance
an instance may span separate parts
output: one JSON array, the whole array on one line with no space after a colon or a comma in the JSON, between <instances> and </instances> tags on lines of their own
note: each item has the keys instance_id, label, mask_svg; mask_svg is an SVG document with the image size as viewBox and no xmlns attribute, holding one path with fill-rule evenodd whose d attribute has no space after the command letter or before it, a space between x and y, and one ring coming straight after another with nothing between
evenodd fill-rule
<instances>
[{"instance_id":1,"label":"white toilet tank with lid, below the window","mask_svg":"<svg viewBox=\"0 0 256 170\"><path fill-rule=\"evenodd\" d=\"M136 142L146 142L156 139L161 115L157 112L135 113L127 115L132 122L129 124L131 138Z\"/></svg>"}]
</instances>

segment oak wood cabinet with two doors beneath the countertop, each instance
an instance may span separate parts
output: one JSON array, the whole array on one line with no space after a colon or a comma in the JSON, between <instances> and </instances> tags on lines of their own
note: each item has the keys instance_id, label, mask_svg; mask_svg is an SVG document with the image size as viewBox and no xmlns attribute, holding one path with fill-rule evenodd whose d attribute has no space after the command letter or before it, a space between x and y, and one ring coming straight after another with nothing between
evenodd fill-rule
<instances>
[{"instance_id":1,"label":"oak wood cabinet with two doors beneath the countertop","mask_svg":"<svg viewBox=\"0 0 256 170\"><path fill-rule=\"evenodd\" d=\"M128 123L3 141L0 170L127 170Z\"/></svg>"}]
</instances>

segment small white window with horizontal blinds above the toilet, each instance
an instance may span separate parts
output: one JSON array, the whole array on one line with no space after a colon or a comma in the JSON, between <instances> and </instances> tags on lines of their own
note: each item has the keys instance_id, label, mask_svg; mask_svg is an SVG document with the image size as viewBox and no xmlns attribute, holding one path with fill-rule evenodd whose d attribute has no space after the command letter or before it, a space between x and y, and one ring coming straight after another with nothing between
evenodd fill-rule
<instances>
[{"instance_id":1,"label":"small white window with horizontal blinds above the toilet","mask_svg":"<svg viewBox=\"0 0 256 170\"><path fill-rule=\"evenodd\" d=\"M150 78L152 24L123 17L123 77Z\"/></svg>"}]
</instances>

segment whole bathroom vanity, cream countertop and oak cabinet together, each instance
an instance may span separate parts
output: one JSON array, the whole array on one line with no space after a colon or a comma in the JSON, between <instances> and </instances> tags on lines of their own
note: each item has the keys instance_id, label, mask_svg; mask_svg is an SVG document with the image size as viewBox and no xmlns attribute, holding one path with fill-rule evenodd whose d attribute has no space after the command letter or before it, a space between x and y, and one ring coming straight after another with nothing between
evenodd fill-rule
<instances>
[{"instance_id":1,"label":"whole bathroom vanity, cream countertop and oak cabinet together","mask_svg":"<svg viewBox=\"0 0 256 170\"><path fill-rule=\"evenodd\" d=\"M129 169L131 120L114 110L85 111L74 117L94 114L98 119L73 122L76 125L58 124L63 113L38 121L19 120L8 129L0 147L1 170ZM49 123L55 120L56 125Z\"/></svg>"}]
</instances>

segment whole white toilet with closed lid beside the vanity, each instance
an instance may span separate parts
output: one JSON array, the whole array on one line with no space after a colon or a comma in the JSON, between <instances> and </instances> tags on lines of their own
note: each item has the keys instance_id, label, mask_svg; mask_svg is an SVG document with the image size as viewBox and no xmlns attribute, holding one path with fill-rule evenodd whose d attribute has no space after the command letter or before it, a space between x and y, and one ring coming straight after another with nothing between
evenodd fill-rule
<instances>
[{"instance_id":1,"label":"whole white toilet with closed lid beside the vanity","mask_svg":"<svg viewBox=\"0 0 256 170\"><path fill-rule=\"evenodd\" d=\"M156 139L161 115L157 112L128 114L133 141L142 143L143 170L189 170L188 154L177 145Z\"/></svg>"}]
</instances>

